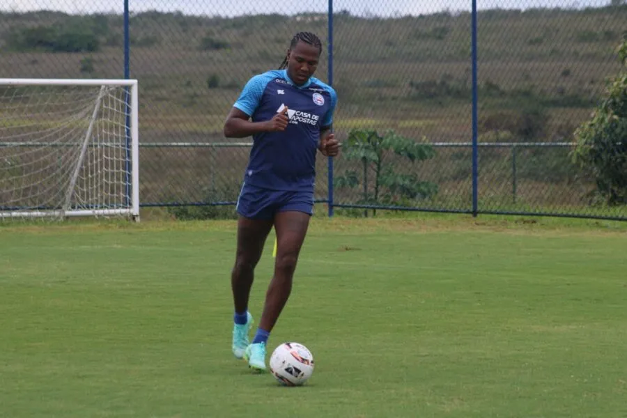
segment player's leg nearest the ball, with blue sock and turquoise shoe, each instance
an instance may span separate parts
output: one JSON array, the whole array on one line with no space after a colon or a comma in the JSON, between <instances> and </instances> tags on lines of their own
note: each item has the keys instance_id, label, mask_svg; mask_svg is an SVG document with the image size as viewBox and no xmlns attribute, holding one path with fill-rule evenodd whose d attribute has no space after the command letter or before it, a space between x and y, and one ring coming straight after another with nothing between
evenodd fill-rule
<instances>
[{"instance_id":1,"label":"player's leg nearest the ball, with blue sock and turquoise shoe","mask_svg":"<svg viewBox=\"0 0 627 418\"><path fill-rule=\"evenodd\" d=\"M278 212L274 216L274 229L277 231L274 277L265 295L263 314L255 339L245 354L250 360L249 365L254 369L265 370L265 343L292 291L292 278L310 217L308 213L298 211Z\"/></svg>"}]
</instances>

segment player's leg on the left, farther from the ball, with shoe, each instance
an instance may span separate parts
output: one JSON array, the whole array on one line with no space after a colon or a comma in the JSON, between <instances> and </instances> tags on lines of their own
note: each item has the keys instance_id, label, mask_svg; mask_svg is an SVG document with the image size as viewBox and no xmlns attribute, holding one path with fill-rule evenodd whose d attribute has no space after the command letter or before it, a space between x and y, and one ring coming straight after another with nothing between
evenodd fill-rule
<instances>
[{"instance_id":1,"label":"player's leg on the left, farther from the ball, with shoe","mask_svg":"<svg viewBox=\"0 0 627 418\"><path fill-rule=\"evenodd\" d=\"M254 280L254 269L261 258L263 245L272 229L272 220L249 219L240 215L238 220L238 244L235 265L231 271L231 290L235 315L233 317L233 355L244 357L248 346L248 332L252 317L248 313L250 289Z\"/></svg>"}]
</instances>

